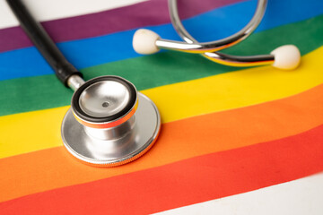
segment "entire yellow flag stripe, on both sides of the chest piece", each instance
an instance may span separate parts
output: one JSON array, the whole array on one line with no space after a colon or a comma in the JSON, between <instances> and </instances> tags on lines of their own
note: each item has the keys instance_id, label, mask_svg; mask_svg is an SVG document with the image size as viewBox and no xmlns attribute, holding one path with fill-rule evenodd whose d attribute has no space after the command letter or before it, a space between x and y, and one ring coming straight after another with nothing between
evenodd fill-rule
<instances>
[{"instance_id":1,"label":"entire yellow flag stripe, on both sides of the chest piece","mask_svg":"<svg viewBox=\"0 0 323 215\"><path fill-rule=\"evenodd\" d=\"M142 92L153 99L161 111L162 122L167 123L281 99L308 90L323 82L322 58L323 47L320 47L302 57L301 66L296 71L264 66ZM60 124L67 108L0 117L0 158L62 145Z\"/></svg>"}]
</instances>

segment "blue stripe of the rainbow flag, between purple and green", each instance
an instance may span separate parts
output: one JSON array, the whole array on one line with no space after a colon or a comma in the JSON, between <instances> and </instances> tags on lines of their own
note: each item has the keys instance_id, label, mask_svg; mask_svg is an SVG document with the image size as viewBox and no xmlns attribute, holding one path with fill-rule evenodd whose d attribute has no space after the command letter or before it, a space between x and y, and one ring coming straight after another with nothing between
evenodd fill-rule
<instances>
[{"instance_id":1,"label":"blue stripe of the rainbow flag, between purple and green","mask_svg":"<svg viewBox=\"0 0 323 215\"><path fill-rule=\"evenodd\" d=\"M196 39L222 39L238 31L252 17L257 1L231 4L197 15L184 21ZM269 0L266 15L258 30L299 22L323 13L323 1ZM153 19L153 17L152 17ZM212 28L210 28L213 26ZM149 27L162 38L178 39L171 24ZM139 56L132 48L135 30L106 36L80 39L57 44L66 58L78 69ZM277 35L279 37L279 35ZM261 45L259 45L261 46ZM53 73L35 47L27 47L0 54L0 80Z\"/></svg>"}]
</instances>

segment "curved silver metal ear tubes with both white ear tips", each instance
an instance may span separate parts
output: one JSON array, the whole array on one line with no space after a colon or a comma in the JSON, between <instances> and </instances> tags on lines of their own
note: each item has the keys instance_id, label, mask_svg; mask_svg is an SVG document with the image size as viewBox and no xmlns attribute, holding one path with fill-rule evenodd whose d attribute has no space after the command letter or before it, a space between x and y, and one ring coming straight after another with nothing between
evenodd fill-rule
<instances>
[{"instance_id":1,"label":"curved silver metal ear tubes with both white ear tips","mask_svg":"<svg viewBox=\"0 0 323 215\"><path fill-rule=\"evenodd\" d=\"M174 51L202 54L207 59L219 64L232 66L253 66L261 64L273 64L279 69L294 69L300 64L301 54L297 47L286 45L277 47L270 55L258 56L231 56L219 53L224 48L238 44L240 41L249 37L256 30L258 24L266 11L266 0L258 0L256 12L250 22L239 32L225 39L199 43L194 39L183 24L180 22L177 0L169 0L170 20L178 32L179 36L185 42L161 39L159 35L152 30L137 30L133 39L133 46L139 54L153 54L162 49Z\"/></svg>"}]
</instances>

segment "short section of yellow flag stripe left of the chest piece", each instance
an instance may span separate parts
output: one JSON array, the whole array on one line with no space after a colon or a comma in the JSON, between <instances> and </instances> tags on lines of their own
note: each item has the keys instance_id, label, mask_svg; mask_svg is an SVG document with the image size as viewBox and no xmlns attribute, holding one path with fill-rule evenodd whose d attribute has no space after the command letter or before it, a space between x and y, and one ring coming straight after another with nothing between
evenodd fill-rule
<instances>
[{"instance_id":1,"label":"short section of yellow flag stripe left of the chest piece","mask_svg":"<svg viewBox=\"0 0 323 215\"><path fill-rule=\"evenodd\" d=\"M0 158L62 145L60 125L67 109L58 107L0 117Z\"/></svg>"}]
</instances>

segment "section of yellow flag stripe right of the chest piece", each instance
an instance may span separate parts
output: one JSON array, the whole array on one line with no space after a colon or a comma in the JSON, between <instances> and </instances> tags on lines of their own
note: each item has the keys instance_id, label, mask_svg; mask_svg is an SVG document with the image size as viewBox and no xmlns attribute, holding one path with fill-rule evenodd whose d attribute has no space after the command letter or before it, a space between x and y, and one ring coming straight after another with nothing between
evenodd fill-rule
<instances>
[{"instance_id":1,"label":"section of yellow flag stripe right of the chest piece","mask_svg":"<svg viewBox=\"0 0 323 215\"><path fill-rule=\"evenodd\" d=\"M323 82L323 47L301 57L294 71L263 66L179 82L142 92L153 99L162 122L282 99ZM176 71L174 71L176 73ZM196 71L198 73L198 71Z\"/></svg>"}]
</instances>

